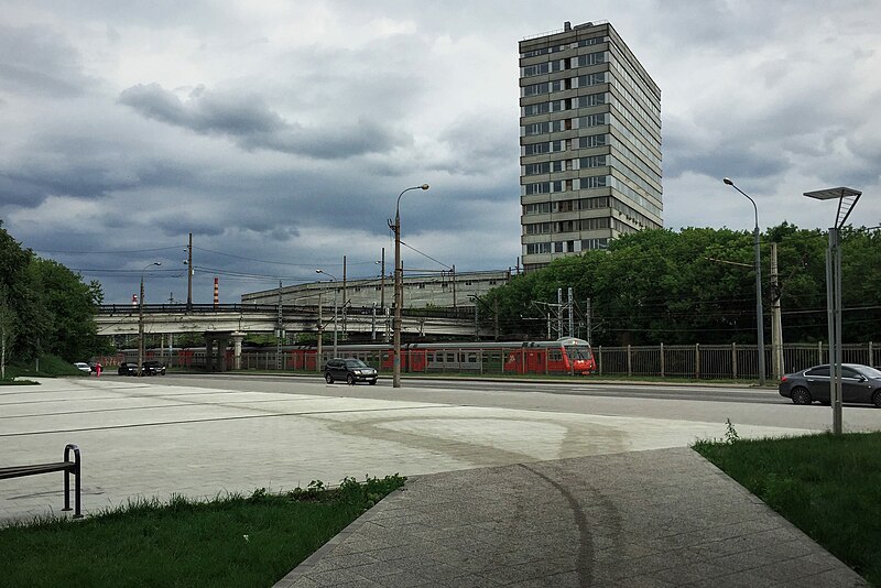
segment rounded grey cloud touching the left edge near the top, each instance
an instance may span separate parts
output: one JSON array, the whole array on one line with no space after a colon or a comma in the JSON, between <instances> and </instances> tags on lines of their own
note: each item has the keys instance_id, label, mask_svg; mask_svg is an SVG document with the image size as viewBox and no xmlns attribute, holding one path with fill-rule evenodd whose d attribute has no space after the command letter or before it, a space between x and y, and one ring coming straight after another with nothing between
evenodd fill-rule
<instances>
[{"instance_id":1,"label":"rounded grey cloud touching the left edge near the top","mask_svg":"<svg viewBox=\"0 0 881 588\"><path fill-rule=\"evenodd\" d=\"M94 85L83 74L78 52L57 32L0 24L0 89L46 98L70 98Z\"/></svg>"}]
</instances>

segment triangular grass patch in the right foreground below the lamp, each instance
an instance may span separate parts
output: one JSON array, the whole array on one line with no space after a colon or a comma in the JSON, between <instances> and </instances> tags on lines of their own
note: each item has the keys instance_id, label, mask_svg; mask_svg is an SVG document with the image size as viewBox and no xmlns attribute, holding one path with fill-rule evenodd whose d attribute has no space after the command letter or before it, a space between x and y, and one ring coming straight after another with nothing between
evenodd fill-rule
<instances>
[{"instance_id":1,"label":"triangular grass patch in the right foreground below the lamp","mask_svg":"<svg viewBox=\"0 0 881 588\"><path fill-rule=\"evenodd\" d=\"M881 586L881 433L698 442L697 453Z\"/></svg>"}]
</instances>

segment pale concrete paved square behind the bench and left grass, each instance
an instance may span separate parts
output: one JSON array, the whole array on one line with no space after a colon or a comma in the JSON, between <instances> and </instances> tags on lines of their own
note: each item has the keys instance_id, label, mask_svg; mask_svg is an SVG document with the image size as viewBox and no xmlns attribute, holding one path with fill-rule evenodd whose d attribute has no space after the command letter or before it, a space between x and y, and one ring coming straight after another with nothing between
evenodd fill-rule
<instances>
[{"instance_id":1,"label":"pale concrete paved square behind the bench and left grass","mask_svg":"<svg viewBox=\"0 0 881 588\"><path fill-rule=\"evenodd\" d=\"M268 393L241 382L238 390L153 382L83 378L0 388L0 465L61 460L65 444L77 444L88 513L138 497L285 490L346 476L682 447L725 434L725 423ZM422 392L431 398L431 390ZM801 432L738 426L741 436ZM57 513L62 479L0 482L0 522Z\"/></svg>"}]
</instances>

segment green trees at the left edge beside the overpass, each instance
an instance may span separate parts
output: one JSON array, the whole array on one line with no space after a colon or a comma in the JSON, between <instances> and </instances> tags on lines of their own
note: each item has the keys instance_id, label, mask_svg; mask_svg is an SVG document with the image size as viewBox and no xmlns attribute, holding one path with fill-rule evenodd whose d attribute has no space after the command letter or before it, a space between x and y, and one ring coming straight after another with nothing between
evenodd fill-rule
<instances>
[{"instance_id":1,"label":"green trees at the left edge beside the overpass","mask_svg":"<svg viewBox=\"0 0 881 588\"><path fill-rule=\"evenodd\" d=\"M84 361L101 342L95 314L104 293L53 260L12 238L0 220L0 362L44 353Z\"/></svg>"}]
</instances>

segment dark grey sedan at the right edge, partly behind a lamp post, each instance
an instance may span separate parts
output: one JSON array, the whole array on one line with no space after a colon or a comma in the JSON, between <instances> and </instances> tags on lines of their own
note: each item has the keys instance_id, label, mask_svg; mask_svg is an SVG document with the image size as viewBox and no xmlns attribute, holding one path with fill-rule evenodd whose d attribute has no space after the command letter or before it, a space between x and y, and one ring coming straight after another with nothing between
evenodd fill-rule
<instances>
[{"instance_id":1,"label":"dark grey sedan at the right edge, partly behind a lamp post","mask_svg":"<svg viewBox=\"0 0 881 588\"><path fill-rule=\"evenodd\" d=\"M792 399L793 404L811 404L814 401L829 404L831 403L829 364L787 373L781 378L777 390L781 396ZM881 409L881 371L860 363L842 363L841 401L874 404Z\"/></svg>"}]
</instances>

